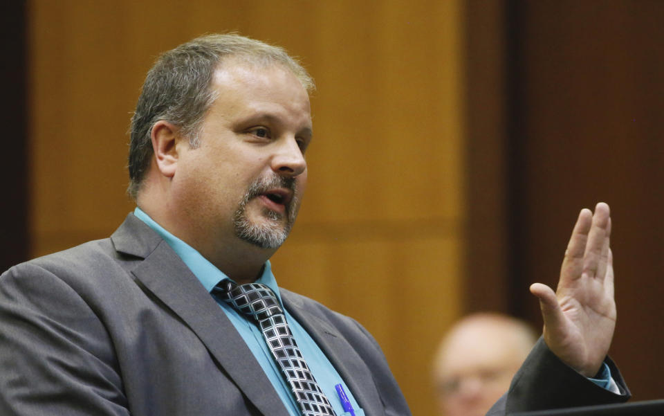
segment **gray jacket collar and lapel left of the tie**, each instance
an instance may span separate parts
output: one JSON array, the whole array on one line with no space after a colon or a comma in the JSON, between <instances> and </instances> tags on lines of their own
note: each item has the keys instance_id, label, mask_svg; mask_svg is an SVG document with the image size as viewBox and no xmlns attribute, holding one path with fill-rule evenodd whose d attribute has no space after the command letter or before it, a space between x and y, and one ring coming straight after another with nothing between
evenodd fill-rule
<instances>
[{"instance_id":1,"label":"gray jacket collar and lapel left of the tie","mask_svg":"<svg viewBox=\"0 0 664 416\"><path fill-rule=\"evenodd\" d=\"M237 329L172 248L131 214L111 239L116 250L145 258L131 273L192 329L261 413L288 416Z\"/></svg>"}]
</instances>

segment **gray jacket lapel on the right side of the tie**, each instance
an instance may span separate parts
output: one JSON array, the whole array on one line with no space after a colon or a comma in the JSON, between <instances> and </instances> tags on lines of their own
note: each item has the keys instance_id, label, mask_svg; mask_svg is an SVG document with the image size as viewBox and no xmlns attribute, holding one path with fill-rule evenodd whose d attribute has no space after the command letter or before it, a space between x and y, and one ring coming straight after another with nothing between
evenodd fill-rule
<instances>
[{"instance_id":1,"label":"gray jacket lapel on the right side of the tie","mask_svg":"<svg viewBox=\"0 0 664 416\"><path fill-rule=\"evenodd\" d=\"M325 320L311 314L302 302L288 293L281 291L284 306L297 322L306 329L320 349L325 353L334 368L353 392L353 397L366 415L383 415L385 413L376 383L371 371L355 349L334 327Z\"/></svg>"}]
</instances>

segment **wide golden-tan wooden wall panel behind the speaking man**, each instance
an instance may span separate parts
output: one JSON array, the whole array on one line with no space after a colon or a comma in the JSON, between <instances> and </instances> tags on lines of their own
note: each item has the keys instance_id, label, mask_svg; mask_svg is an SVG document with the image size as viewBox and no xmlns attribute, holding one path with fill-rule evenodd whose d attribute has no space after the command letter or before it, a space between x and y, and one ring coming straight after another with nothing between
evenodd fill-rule
<instances>
[{"instance_id":1,"label":"wide golden-tan wooden wall panel behind the speaking man","mask_svg":"<svg viewBox=\"0 0 664 416\"><path fill-rule=\"evenodd\" d=\"M285 46L318 89L308 195L275 274L365 324L414 414L433 414L422 374L462 309L461 0L29 6L33 253L106 237L133 208L125 132L158 53L230 30Z\"/></svg>"}]
</instances>

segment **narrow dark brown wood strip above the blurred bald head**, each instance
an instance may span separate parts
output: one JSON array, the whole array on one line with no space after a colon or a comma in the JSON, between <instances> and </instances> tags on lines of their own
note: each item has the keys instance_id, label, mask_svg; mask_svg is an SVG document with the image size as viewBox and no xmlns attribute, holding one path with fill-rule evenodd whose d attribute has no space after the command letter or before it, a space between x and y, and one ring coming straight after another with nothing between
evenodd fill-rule
<instances>
[{"instance_id":1,"label":"narrow dark brown wood strip above the blurred bald head","mask_svg":"<svg viewBox=\"0 0 664 416\"><path fill-rule=\"evenodd\" d=\"M465 4L466 311L510 312L505 0ZM487 287L490 290L477 290ZM523 289L523 288L522 288Z\"/></svg>"}]
</instances>

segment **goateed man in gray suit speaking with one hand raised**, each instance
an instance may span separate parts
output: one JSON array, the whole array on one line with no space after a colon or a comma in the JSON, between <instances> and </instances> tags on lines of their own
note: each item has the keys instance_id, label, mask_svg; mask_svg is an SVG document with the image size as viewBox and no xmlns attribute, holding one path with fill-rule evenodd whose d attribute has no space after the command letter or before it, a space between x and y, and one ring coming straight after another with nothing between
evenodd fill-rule
<instances>
[{"instance_id":1,"label":"goateed man in gray suit speaking with one hand raised","mask_svg":"<svg viewBox=\"0 0 664 416\"><path fill-rule=\"evenodd\" d=\"M410 414L374 338L270 269L306 185L312 88L237 35L160 57L132 119L136 211L0 277L1 415ZM544 337L491 414L627 399L605 359L610 225L606 204L582 210L557 293L531 287Z\"/></svg>"}]
</instances>

